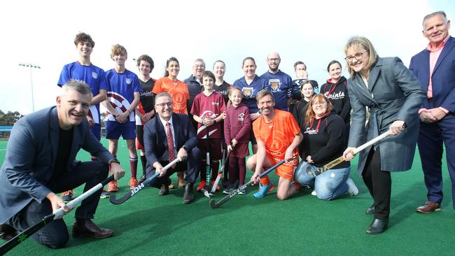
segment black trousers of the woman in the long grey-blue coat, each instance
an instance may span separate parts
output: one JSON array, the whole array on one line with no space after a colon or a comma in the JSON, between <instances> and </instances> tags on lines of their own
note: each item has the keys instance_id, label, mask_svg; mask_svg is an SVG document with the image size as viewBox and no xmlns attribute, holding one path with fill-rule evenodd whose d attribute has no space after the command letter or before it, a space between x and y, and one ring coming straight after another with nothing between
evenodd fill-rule
<instances>
[{"instance_id":1,"label":"black trousers of the woman in the long grey-blue coat","mask_svg":"<svg viewBox=\"0 0 455 256\"><path fill-rule=\"evenodd\" d=\"M388 219L390 215L390 197L392 180L389 171L381 170L381 152L371 148L368 153L365 168L362 172L363 182L374 199L374 218Z\"/></svg>"}]
</instances>

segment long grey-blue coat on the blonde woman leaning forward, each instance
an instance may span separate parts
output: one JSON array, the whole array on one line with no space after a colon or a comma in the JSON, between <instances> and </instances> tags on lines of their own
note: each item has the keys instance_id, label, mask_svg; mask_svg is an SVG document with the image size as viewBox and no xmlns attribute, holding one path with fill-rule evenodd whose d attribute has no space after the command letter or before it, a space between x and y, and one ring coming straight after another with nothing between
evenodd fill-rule
<instances>
[{"instance_id":1,"label":"long grey-blue coat on the blonde woman leaning forward","mask_svg":"<svg viewBox=\"0 0 455 256\"><path fill-rule=\"evenodd\" d=\"M368 87L360 74L348 80L349 99L353 113L349 147L358 147L388 130L395 120L403 120L407 129L384 138L380 145L381 169L406 171L411 168L419 135L418 110L425 92L414 74L398 57L379 58L370 69ZM370 118L365 125L365 106ZM362 173L370 148L360 152L358 173Z\"/></svg>"}]
</instances>

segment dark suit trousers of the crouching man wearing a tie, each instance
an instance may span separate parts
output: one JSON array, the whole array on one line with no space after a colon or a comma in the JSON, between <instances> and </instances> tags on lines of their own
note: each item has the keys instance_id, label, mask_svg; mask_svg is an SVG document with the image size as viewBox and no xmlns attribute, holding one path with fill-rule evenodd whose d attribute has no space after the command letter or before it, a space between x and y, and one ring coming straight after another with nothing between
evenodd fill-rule
<instances>
[{"instance_id":1,"label":"dark suit trousers of the crouching man wearing a tie","mask_svg":"<svg viewBox=\"0 0 455 256\"><path fill-rule=\"evenodd\" d=\"M175 168L167 169L166 173L162 177L158 177L155 179L155 182L152 184L153 187L160 188L163 184L169 185L171 183L169 177L172 174L176 173L177 171L185 171L186 170L186 181L188 183L194 184L196 183L196 178L199 175L199 168L201 164L202 153L201 150L197 147L193 148L188 152L188 159L186 161L177 162ZM150 163L153 164L153 163ZM169 161L160 161L162 166L169 164ZM155 174L156 169L152 169L147 173L147 178L153 176Z\"/></svg>"}]
</instances>

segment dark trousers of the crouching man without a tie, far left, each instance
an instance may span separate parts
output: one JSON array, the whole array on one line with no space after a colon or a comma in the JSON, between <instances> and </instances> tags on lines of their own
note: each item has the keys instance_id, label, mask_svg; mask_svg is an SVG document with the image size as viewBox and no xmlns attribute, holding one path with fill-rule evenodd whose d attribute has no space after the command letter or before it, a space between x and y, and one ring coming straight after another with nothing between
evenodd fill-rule
<instances>
[{"instance_id":1,"label":"dark trousers of the crouching man without a tie, far left","mask_svg":"<svg viewBox=\"0 0 455 256\"><path fill-rule=\"evenodd\" d=\"M57 194L72 190L85 183L85 192L98 183L101 183L107 177L108 173L109 166L102 162L79 162L72 171L65 172L62 176L49 180L46 187ZM83 200L76 209L75 217L82 219L94 218L101 193L102 190L98 190ZM52 213L52 206L48 199L41 201L41 204L36 200L32 200L25 208L14 215L13 218L10 218L6 224L22 232L43 220L50 213ZM68 229L63 219L50 222L30 237L34 241L49 248L62 248L69 239Z\"/></svg>"}]
</instances>

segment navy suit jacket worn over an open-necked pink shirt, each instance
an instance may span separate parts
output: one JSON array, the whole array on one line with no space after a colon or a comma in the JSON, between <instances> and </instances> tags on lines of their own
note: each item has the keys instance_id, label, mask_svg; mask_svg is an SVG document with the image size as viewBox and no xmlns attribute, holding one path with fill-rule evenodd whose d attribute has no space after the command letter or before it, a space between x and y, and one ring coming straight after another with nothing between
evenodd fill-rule
<instances>
[{"instance_id":1,"label":"navy suit jacket worn over an open-necked pink shirt","mask_svg":"<svg viewBox=\"0 0 455 256\"><path fill-rule=\"evenodd\" d=\"M419 79L423 90L428 90L430 80L430 52L422 50L411 59L409 69ZM433 101L425 97L422 108L442 107L455 112L455 38L449 37L437 59L433 76L431 76Z\"/></svg>"}]
</instances>

